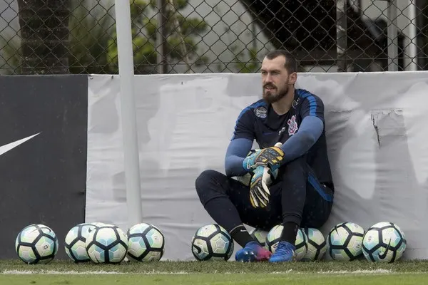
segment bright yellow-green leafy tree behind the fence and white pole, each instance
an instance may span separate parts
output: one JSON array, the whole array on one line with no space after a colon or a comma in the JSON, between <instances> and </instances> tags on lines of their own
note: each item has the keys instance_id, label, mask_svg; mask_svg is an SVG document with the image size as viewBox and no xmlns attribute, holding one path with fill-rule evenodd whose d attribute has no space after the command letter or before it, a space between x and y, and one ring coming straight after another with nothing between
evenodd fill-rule
<instances>
[{"instance_id":1,"label":"bright yellow-green leafy tree behind the fence and white pole","mask_svg":"<svg viewBox=\"0 0 428 285\"><path fill-rule=\"evenodd\" d=\"M158 21L156 21L156 17L148 18L146 16L158 13L156 0L150 2L131 0L131 3L134 72L136 74L156 73ZM206 58L198 56L195 38L205 33L208 24L201 19L184 17L180 14L180 11L187 6L188 0L166 1L165 35L167 40L165 49L170 62L191 61L186 63L190 69L191 65L198 65L198 63L206 61ZM115 29L113 38L108 43L108 62L113 73L118 73L117 56Z\"/></svg>"}]
</instances>

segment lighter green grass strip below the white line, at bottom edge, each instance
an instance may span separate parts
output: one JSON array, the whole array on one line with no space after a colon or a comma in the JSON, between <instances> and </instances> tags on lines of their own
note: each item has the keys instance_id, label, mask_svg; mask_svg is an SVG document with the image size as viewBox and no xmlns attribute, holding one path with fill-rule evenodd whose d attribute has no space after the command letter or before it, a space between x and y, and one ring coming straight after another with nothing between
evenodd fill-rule
<instances>
[{"instance_id":1,"label":"lighter green grass strip below the white line, at bottom edge","mask_svg":"<svg viewBox=\"0 0 428 285\"><path fill-rule=\"evenodd\" d=\"M64 275L39 275L39 276L0 276L1 284L84 284L91 285L133 285L133 284L269 284L269 285L407 285L426 284L428 274L402 275L320 275L320 274L191 274L191 275L91 275L91 276L64 276Z\"/></svg>"}]
</instances>

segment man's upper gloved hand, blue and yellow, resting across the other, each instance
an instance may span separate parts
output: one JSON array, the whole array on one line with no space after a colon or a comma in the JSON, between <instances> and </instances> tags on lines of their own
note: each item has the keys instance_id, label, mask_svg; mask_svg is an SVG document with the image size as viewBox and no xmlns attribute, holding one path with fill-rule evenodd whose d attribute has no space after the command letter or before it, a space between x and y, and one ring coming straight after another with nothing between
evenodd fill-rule
<instances>
[{"instance_id":1,"label":"man's upper gloved hand, blue and yellow, resting across the other","mask_svg":"<svg viewBox=\"0 0 428 285\"><path fill-rule=\"evenodd\" d=\"M266 147L263 150L256 150L243 160L243 167L248 172L255 170L259 165L268 165L272 168L278 168L284 152L280 149L281 142L277 142L273 147Z\"/></svg>"}]
</instances>

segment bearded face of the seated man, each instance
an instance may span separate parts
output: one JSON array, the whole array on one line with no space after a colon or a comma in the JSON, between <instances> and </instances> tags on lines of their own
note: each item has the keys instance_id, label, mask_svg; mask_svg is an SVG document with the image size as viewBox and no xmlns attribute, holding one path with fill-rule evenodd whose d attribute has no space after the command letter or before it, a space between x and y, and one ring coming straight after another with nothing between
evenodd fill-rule
<instances>
[{"instance_id":1,"label":"bearded face of the seated man","mask_svg":"<svg viewBox=\"0 0 428 285\"><path fill-rule=\"evenodd\" d=\"M267 103L275 103L285 95L289 88L290 75L285 69L285 57L263 59L262 63L263 99Z\"/></svg>"}]
</instances>

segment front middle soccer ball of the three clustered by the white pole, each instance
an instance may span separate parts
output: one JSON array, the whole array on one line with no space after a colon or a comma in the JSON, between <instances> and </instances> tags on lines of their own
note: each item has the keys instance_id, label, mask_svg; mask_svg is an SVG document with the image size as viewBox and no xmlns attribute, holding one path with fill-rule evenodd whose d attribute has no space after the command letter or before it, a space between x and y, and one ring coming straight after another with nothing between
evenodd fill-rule
<instances>
[{"instance_id":1,"label":"front middle soccer ball of the three clustered by the white pole","mask_svg":"<svg viewBox=\"0 0 428 285\"><path fill-rule=\"evenodd\" d=\"M85 247L93 262L118 264L126 257L128 239L122 229L105 225L89 232Z\"/></svg>"}]
</instances>

